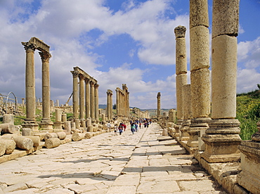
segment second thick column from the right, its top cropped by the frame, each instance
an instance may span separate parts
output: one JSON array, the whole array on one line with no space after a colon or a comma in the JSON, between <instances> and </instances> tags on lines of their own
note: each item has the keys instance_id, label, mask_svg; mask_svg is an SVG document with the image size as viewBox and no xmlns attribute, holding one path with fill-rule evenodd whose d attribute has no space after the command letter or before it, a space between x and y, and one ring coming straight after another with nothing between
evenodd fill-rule
<instances>
[{"instance_id":1,"label":"second thick column from the right, its top cropped by the frame","mask_svg":"<svg viewBox=\"0 0 260 194\"><path fill-rule=\"evenodd\" d=\"M193 119L187 145L197 149L210 121L209 17L207 0L190 0L190 90ZM190 151L192 153L193 151Z\"/></svg>"}]
</instances>

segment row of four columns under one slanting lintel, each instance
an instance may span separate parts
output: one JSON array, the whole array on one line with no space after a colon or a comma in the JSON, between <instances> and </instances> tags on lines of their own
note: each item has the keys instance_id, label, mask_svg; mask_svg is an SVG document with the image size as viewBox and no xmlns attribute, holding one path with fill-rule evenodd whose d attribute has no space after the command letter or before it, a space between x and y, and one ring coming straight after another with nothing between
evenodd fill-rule
<instances>
[{"instance_id":1,"label":"row of four columns under one slanting lintel","mask_svg":"<svg viewBox=\"0 0 260 194\"><path fill-rule=\"evenodd\" d=\"M99 122L98 117L98 81L88 75L79 67L73 67L73 117L79 119L82 127L86 127L84 121L91 118L93 122Z\"/></svg>"}]
</instances>

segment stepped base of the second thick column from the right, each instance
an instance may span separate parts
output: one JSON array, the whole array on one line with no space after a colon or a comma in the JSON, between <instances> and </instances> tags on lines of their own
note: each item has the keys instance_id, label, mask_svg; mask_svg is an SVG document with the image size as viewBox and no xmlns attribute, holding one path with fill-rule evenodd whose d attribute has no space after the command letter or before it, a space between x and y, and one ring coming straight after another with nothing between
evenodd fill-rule
<instances>
[{"instance_id":1,"label":"stepped base of the second thick column from the right","mask_svg":"<svg viewBox=\"0 0 260 194\"><path fill-rule=\"evenodd\" d=\"M206 130L209 128L208 122L211 120L209 117L191 119L190 129L188 129L189 140L187 145L190 148L199 147L199 131Z\"/></svg>"}]
</instances>

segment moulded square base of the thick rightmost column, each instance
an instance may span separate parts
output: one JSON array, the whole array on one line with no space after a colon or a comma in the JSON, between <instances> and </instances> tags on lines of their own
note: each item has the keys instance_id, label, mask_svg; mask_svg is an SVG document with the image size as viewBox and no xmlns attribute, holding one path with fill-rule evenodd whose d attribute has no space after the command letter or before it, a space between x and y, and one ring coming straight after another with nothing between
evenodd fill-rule
<instances>
[{"instance_id":1,"label":"moulded square base of the thick rightmost column","mask_svg":"<svg viewBox=\"0 0 260 194\"><path fill-rule=\"evenodd\" d=\"M238 145L241 143L240 122L237 119L213 119L209 129L202 136L205 151L204 160L210 163L240 160Z\"/></svg>"}]
</instances>

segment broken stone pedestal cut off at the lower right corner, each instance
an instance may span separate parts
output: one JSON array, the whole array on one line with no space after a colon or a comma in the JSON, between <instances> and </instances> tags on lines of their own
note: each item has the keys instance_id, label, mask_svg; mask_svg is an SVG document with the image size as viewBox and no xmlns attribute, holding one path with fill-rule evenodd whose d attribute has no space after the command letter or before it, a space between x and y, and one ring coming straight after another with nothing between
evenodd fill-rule
<instances>
[{"instance_id":1,"label":"broken stone pedestal cut off at the lower right corner","mask_svg":"<svg viewBox=\"0 0 260 194\"><path fill-rule=\"evenodd\" d=\"M238 146L241 151L242 172L238 174L238 184L251 193L260 190L260 142L242 141Z\"/></svg>"}]
</instances>

